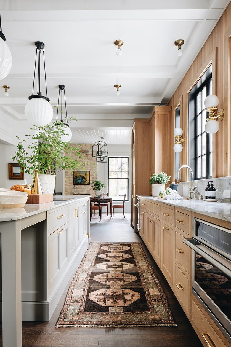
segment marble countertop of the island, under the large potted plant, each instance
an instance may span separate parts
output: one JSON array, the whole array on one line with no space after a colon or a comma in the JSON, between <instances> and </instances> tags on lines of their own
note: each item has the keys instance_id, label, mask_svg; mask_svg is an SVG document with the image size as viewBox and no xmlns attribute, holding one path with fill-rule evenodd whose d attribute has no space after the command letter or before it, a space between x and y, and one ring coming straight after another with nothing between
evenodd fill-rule
<instances>
[{"instance_id":1,"label":"marble countertop of the island, under the large potted plant","mask_svg":"<svg viewBox=\"0 0 231 347\"><path fill-rule=\"evenodd\" d=\"M41 213L44 211L52 210L59 206L70 204L74 201L88 200L90 195L56 195L54 201L47 202L44 204L26 204L20 209L3 209L0 205L0 222L22 219L31 215Z\"/></svg>"}]
</instances>

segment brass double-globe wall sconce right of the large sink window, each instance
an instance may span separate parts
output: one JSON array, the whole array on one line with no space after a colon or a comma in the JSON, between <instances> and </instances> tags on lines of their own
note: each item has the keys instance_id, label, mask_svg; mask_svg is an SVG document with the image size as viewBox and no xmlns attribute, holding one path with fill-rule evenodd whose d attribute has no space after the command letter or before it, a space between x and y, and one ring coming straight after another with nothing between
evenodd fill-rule
<instances>
[{"instance_id":1,"label":"brass double-globe wall sconce right of the large sink window","mask_svg":"<svg viewBox=\"0 0 231 347\"><path fill-rule=\"evenodd\" d=\"M220 128L217 119L223 119L224 110L220 109L219 112L216 112L217 105L219 104L219 99L216 95L208 95L207 98L205 98L204 104L206 111L209 112L208 118L206 119L205 131L208 134L215 134Z\"/></svg>"}]
</instances>

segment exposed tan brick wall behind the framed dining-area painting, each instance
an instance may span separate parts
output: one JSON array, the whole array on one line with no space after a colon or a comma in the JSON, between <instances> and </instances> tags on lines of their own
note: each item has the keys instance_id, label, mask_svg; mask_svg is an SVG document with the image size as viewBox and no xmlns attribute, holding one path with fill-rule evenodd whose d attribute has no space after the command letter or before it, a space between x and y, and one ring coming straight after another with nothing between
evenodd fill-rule
<instances>
[{"instance_id":1,"label":"exposed tan brick wall behind the framed dining-area painting","mask_svg":"<svg viewBox=\"0 0 231 347\"><path fill-rule=\"evenodd\" d=\"M90 184L81 185L73 184L73 171L67 169L64 171L64 193L63 195L72 195L75 194L87 194L90 193L92 196L95 196L94 190L91 188L91 182L97 180L97 163L96 158L92 158L92 144L77 144L81 154L85 156L83 160L85 167L76 168L75 170L89 170L90 171ZM73 145L74 147L74 145Z\"/></svg>"}]
</instances>

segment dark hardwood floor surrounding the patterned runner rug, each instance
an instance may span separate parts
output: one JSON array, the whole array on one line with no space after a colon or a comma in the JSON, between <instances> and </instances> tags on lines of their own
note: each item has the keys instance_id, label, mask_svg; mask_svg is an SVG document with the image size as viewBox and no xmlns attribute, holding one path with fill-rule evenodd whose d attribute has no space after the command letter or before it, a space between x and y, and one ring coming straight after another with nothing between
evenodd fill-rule
<instances>
[{"instance_id":1,"label":"dark hardwood floor surrounding the patterned runner rug","mask_svg":"<svg viewBox=\"0 0 231 347\"><path fill-rule=\"evenodd\" d=\"M129 215L127 215L130 220ZM98 242L142 242L139 235L128 224L91 223L90 241ZM143 242L142 242L143 244ZM86 243L76 261L76 269L85 253ZM163 277L149 251L143 244L144 251L161 282L168 298L177 327L134 327L134 328L55 328L65 299L63 296L49 322L23 322L23 346L103 346L103 347L203 347L186 315L180 307L167 281ZM73 273L74 276L74 273ZM72 278L70 279L71 282ZM10 347L10 346L9 346Z\"/></svg>"}]
</instances>

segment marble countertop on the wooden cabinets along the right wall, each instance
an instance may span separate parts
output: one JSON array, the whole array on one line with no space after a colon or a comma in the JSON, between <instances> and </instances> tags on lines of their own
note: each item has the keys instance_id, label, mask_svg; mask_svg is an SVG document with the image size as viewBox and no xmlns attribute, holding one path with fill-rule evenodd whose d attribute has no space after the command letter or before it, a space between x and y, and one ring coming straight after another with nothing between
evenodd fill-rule
<instances>
[{"instance_id":1,"label":"marble countertop on the wooden cabinets along the right wall","mask_svg":"<svg viewBox=\"0 0 231 347\"><path fill-rule=\"evenodd\" d=\"M158 201L171 206L176 206L184 210L192 211L195 213L204 214L217 219L222 219L231 222L231 204L223 202L202 201L202 200L181 200L181 201L167 201L163 198L154 198L152 196L139 196L140 198Z\"/></svg>"}]
</instances>

